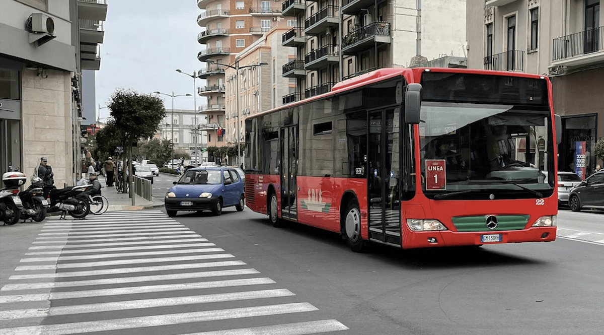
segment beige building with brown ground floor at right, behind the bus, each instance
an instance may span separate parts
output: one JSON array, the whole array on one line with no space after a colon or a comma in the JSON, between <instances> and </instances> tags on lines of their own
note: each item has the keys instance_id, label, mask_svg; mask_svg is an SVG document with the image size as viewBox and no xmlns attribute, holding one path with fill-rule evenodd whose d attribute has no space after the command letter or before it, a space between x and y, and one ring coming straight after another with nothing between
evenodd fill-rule
<instances>
[{"instance_id":1,"label":"beige building with brown ground floor at right, behind the bus","mask_svg":"<svg viewBox=\"0 0 604 335\"><path fill-rule=\"evenodd\" d=\"M599 0L468 0L468 67L549 76L562 116L558 169L575 171L586 148L586 175L604 136L604 28Z\"/></svg>"}]
</instances>

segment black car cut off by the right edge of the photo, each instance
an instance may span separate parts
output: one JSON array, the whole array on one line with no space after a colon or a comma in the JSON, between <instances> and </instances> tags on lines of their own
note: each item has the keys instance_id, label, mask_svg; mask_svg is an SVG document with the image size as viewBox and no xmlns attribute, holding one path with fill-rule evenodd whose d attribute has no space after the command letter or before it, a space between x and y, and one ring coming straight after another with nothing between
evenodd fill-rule
<instances>
[{"instance_id":1,"label":"black car cut off by the right edge of the photo","mask_svg":"<svg viewBox=\"0 0 604 335\"><path fill-rule=\"evenodd\" d=\"M604 209L604 171L590 175L573 187L568 195L568 206L573 212L585 207Z\"/></svg>"}]
</instances>

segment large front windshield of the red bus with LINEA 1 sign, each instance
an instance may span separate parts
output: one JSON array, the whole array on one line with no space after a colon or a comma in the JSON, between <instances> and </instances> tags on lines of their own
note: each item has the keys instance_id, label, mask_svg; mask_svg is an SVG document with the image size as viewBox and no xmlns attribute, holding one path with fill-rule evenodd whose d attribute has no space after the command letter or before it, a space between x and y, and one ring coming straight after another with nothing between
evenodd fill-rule
<instances>
[{"instance_id":1,"label":"large front windshield of the red bus with LINEA 1 sign","mask_svg":"<svg viewBox=\"0 0 604 335\"><path fill-rule=\"evenodd\" d=\"M428 197L541 198L553 192L554 181L547 177L554 175L555 158L547 107L422 102L419 127ZM432 170L440 171L440 180Z\"/></svg>"}]
</instances>

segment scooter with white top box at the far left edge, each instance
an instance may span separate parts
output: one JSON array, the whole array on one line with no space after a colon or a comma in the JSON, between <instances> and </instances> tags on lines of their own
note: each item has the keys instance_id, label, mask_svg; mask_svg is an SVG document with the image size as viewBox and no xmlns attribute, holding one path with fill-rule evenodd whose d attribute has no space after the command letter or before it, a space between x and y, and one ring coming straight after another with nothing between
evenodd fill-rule
<instances>
[{"instance_id":1,"label":"scooter with white top box at the far left edge","mask_svg":"<svg viewBox=\"0 0 604 335\"><path fill-rule=\"evenodd\" d=\"M0 218L5 224L12 226L21 217L21 198L19 198L19 186L25 183L25 175L22 172L6 172L2 175L4 188L0 189Z\"/></svg>"}]
</instances>

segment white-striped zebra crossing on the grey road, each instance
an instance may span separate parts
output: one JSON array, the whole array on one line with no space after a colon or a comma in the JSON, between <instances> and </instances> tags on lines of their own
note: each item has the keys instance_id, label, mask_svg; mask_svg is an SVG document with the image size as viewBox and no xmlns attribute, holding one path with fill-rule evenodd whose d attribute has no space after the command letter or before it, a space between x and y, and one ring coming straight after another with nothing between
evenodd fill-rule
<instances>
[{"instance_id":1,"label":"white-striped zebra crossing on the grey road","mask_svg":"<svg viewBox=\"0 0 604 335\"><path fill-rule=\"evenodd\" d=\"M0 335L301 335L349 329L321 316L159 210L47 220L0 288Z\"/></svg>"}]
</instances>

